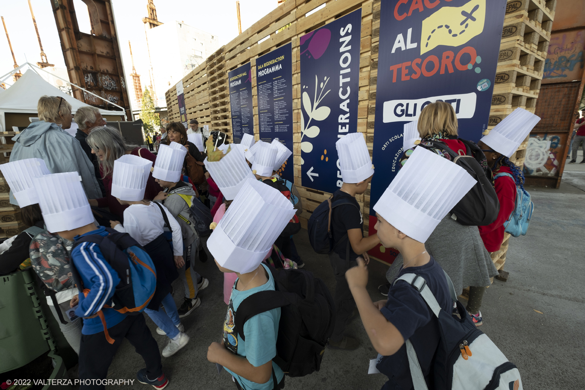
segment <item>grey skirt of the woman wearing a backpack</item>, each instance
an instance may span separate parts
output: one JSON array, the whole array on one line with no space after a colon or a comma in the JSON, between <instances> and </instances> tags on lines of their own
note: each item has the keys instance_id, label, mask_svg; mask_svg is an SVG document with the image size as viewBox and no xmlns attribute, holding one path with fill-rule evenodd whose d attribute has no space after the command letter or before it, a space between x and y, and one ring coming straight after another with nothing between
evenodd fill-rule
<instances>
[{"instance_id":1,"label":"grey skirt of the woman wearing a backpack","mask_svg":"<svg viewBox=\"0 0 585 390\"><path fill-rule=\"evenodd\" d=\"M457 295L469 286L489 286L490 278L498 274L477 226L463 226L453 220L450 213L439 222L425 247L447 272ZM388 281L394 280L402 262L402 254L398 254L386 272Z\"/></svg>"}]
</instances>

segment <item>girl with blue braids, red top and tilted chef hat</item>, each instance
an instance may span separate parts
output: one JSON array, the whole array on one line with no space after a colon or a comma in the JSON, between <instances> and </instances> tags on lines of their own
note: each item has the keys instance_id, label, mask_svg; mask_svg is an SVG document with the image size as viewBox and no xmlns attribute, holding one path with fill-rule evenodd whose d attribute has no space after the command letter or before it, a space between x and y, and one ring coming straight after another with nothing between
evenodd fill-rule
<instances>
[{"instance_id":1,"label":"girl with blue braids, red top and tilted chef hat","mask_svg":"<svg viewBox=\"0 0 585 390\"><path fill-rule=\"evenodd\" d=\"M498 218L490 225L478 226L481 240L490 253L500 250L504 241L504 224L515 209L516 191L525 191L524 175L517 165L510 161L510 157L516 153L539 120L541 118L533 113L517 108L492 130L486 130L478 143L493 172L495 193L500 201ZM476 325L482 323L479 305L483 292L469 289L469 303L474 305L467 305L467 311ZM476 305L476 302L479 302L479 305Z\"/></svg>"}]
</instances>

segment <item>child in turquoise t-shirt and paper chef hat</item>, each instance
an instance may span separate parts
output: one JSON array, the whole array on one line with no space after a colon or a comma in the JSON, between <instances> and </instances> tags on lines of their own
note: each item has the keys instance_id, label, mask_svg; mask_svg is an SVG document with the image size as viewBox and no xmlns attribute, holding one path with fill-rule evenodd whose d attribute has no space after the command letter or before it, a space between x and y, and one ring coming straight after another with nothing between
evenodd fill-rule
<instances>
[{"instance_id":1,"label":"child in turquoise t-shirt and paper chef hat","mask_svg":"<svg viewBox=\"0 0 585 390\"><path fill-rule=\"evenodd\" d=\"M248 296L274 290L273 276L261 263L294 212L291 202L277 189L249 179L207 241L219 270L238 274L223 324L223 345L211 343L207 358L225 367L243 389L259 388L258 384L269 381L272 388L272 372L277 382L284 378L281 368L272 361L276 356L280 308L247 320L243 328L245 340L235 329L234 319L240 303Z\"/></svg>"}]
</instances>

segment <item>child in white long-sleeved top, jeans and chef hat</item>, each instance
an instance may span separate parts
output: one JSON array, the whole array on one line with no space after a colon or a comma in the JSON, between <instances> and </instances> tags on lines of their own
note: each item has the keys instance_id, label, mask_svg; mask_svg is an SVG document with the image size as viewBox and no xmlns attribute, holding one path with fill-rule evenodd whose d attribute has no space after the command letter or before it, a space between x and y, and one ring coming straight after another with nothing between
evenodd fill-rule
<instances>
[{"instance_id":1,"label":"child in white long-sleeved top, jeans and chef hat","mask_svg":"<svg viewBox=\"0 0 585 390\"><path fill-rule=\"evenodd\" d=\"M164 151L166 149L163 149L163 153ZM165 163L170 160L166 153L161 156L161 159ZM176 161L171 160L170 164L158 165L157 176L164 175L168 178L174 175L174 171L171 171L176 168L174 163ZM182 165L183 161L180 163ZM143 200L151 167L152 161L132 154L126 154L114 161L112 196L115 196L122 205L129 205L129 207L124 210L124 225L122 226L118 221L111 221L111 226L118 232L130 234L144 247L154 263L156 291L144 312L159 326L157 333L166 334L169 337L170 340L162 353L164 357L168 357L187 345L189 341L189 336L183 332L184 327L171 295L171 283L178 277L177 268L185 265L183 236L181 226L164 206ZM172 248L164 234L165 227L172 232ZM164 310L160 308L161 304Z\"/></svg>"}]
</instances>

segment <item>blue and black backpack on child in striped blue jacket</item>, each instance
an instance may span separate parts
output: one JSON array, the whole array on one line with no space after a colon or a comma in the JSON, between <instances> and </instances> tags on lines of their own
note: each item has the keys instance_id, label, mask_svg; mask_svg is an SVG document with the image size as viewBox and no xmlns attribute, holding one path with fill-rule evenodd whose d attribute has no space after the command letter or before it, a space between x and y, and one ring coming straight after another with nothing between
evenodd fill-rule
<instances>
[{"instance_id":1,"label":"blue and black backpack on child in striped blue jacket","mask_svg":"<svg viewBox=\"0 0 585 390\"><path fill-rule=\"evenodd\" d=\"M129 315L141 313L154 296L156 289L156 270L150 256L130 237L106 227L108 236L99 234L80 237L73 249L84 242L98 244L105 260L118 272L119 284L112 297L111 308ZM71 249L73 251L73 249ZM84 293L84 286L75 267L71 267L79 291ZM104 306L109 307L109 306Z\"/></svg>"}]
</instances>

